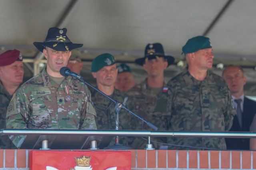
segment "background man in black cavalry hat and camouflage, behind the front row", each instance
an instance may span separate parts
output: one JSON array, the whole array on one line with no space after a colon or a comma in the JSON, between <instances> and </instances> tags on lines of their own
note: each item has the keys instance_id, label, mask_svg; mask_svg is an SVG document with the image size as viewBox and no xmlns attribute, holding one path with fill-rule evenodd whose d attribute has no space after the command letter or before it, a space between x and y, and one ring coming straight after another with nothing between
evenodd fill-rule
<instances>
[{"instance_id":1,"label":"background man in black cavalry hat and camouflage, behind the front row","mask_svg":"<svg viewBox=\"0 0 256 170\"><path fill-rule=\"evenodd\" d=\"M127 94L135 98L136 104L143 111L136 111L140 116L147 121L156 125L158 130L168 130L168 115L155 114L154 106L158 95L166 88L164 82L164 69L174 62L174 57L166 56L163 46L160 43L148 44L145 49L143 58L136 59L135 63L144 67L148 73L147 78L130 89ZM140 122L141 123L141 122ZM152 130L148 125L144 124L144 130ZM152 138L152 141L166 143L166 138ZM142 140L140 149L143 149L147 144ZM155 149L159 149L161 145L152 143Z\"/></svg>"}]
</instances>

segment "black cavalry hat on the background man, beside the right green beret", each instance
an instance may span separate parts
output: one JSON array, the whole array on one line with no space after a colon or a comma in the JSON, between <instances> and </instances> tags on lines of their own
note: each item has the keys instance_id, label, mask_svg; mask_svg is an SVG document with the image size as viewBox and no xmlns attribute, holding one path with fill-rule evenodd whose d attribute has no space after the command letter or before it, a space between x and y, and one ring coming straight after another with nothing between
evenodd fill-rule
<instances>
[{"instance_id":1,"label":"black cavalry hat on the background man, beside the right green beret","mask_svg":"<svg viewBox=\"0 0 256 170\"><path fill-rule=\"evenodd\" d=\"M164 57L168 62L168 66L174 63L174 57L168 56L164 54L164 48L160 43L148 44L145 49L145 55L143 58L136 59L135 63L140 64L143 66L145 61L151 59L157 59L158 57Z\"/></svg>"}]
</instances>

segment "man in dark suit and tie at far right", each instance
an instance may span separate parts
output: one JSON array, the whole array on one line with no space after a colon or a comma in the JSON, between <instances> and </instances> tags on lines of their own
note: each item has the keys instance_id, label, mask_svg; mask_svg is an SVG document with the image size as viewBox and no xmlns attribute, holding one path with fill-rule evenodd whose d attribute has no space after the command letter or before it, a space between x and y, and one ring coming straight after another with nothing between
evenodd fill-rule
<instances>
[{"instance_id":1,"label":"man in dark suit and tie at far right","mask_svg":"<svg viewBox=\"0 0 256 170\"><path fill-rule=\"evenodd\" d=\"M248 132L256 113L256 102L244 96L244 85L246 84L244 70L240 66L229 65L222 72L222 76L228 84L237 110L230 131ZM239 101L240 104L238 104ZM250 139L226 138L226 145L230 150L249 150Z\"/></svg>"}]
</instances>

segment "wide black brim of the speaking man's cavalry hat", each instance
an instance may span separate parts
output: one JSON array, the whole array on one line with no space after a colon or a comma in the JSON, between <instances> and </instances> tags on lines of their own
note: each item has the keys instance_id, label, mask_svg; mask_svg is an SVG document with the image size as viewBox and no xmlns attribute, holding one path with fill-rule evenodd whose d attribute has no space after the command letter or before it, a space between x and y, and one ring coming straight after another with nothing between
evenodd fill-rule
<instances>
[{"instance_id":1,"label":"wide black brim of the speaking man's cavalry hat","mask_svg":"<svg viewBox=\"0 0 256 170\"><path fill-rule=\"evenodd\" d=\"M71 51L72 49L77 49L83 46L83 44L74 44L74 43L58 43L55 47L53 47L56 42L34 42L34 46L41 52L43 52L45 47L49 47L51 49L54 49L56 51L67 51L65 46L68 46L68 50Z\"/></svg>"}]
</instances>

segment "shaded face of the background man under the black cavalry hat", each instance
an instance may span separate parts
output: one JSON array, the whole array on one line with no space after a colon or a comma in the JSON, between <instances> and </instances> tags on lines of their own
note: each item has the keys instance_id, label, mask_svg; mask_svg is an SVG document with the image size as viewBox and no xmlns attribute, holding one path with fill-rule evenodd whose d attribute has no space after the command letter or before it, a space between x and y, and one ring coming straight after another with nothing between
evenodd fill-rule
<instances>
[{"instance_id":1,"label":"shaded face of the background man under the black cavalry hat","mask_svg":"<svg viewBox=\"0 0 256 170\"><path fill-rule=\"evenodd\" d=\"M164 74L164 69L168 66L167 61L163 57L158 59L151 59L143 64L144 69L148 73L148 76L156 77L158 75Z\"/></svg>"}]
</instances>

